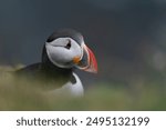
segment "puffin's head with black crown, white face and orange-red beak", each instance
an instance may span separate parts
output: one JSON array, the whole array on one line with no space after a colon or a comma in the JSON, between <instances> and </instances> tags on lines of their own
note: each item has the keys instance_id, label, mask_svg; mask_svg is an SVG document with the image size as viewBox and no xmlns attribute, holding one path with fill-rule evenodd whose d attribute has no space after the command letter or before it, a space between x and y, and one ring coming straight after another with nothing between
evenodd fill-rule
<instances>
[{"instance_id":1,"label":"puffin's head with black crown, white face and orange-red beak","mask_svg":"<svg viewBox=\"0 0 166 130\"><path fill-rule=\"evenodd\" d=\"M44 54L59 68L79 68L97 72L96 59L83 36L71 29L53 32L44 44ZM44 59L43 59L44 60Z\"/></svg>"}]
</instances>

